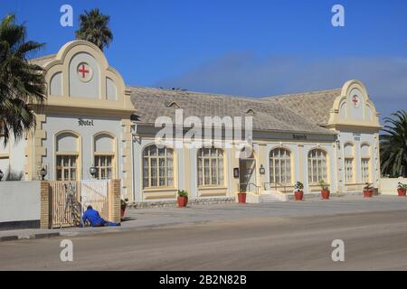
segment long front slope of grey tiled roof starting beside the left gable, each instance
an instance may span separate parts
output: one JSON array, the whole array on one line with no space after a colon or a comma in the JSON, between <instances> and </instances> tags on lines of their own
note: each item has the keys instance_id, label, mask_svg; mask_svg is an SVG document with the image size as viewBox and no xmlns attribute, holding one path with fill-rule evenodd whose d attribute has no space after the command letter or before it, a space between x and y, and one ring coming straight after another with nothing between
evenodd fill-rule
<instances>
[{"instance_id":1,"label":"long front slope of grey tiled roof starting beside the left gable","mask_svg":"<svg viewBox=\"0 0 407 289\"><path fill-rule=\"evenodd\" d=\"M175 107L184 109L184 117L253 117L253 129L332 135L277 101L240 98L191 91L130 87L131 100L139 123L154 124L156 117L171 117ZM173 104L173 106L171 106ZM248 114L251 109L254 114Z\"/></svg>"}]
</instances>

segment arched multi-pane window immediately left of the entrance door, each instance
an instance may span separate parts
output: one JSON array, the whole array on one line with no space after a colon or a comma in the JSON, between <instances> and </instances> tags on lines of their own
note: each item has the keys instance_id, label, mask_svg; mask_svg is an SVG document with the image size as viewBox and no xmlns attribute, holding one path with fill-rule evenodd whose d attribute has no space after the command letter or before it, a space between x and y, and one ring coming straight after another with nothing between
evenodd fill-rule
<instances>
[{"instance_id":1,"label":"arched multi-pane window immediately left of the entrance door","mask_svg":"<svg viewBox=\"0 0 407 289\"><path fill-rule=\"evenodd\" d=\"M223 185L223 152L211 147L198 151L198 185Z\"/></svg>"}]
</instances>

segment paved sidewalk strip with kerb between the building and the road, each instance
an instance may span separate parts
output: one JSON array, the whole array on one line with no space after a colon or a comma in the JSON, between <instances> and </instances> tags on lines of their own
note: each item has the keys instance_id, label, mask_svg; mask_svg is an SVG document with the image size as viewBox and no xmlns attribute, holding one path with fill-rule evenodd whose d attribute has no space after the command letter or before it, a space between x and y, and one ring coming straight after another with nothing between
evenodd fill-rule
<instances>
[{"instance_id":1,"label":"paved sidewalk strip with kerb between the building and the road","mask_svg":"<svg viewBox=\"0 0 407 289\"><path fill-rule=\"evenodd\" d=\"M391 210L407 210L407 198L375 196L372 199L364 199L362 196L345 196L334 197L330 200L315 198L304 201L289 200L262 204L224 203L192 205L187 208L128 209L126 210L126 218L122 221L120 227L5 230L0 231L0 242L26 238L86 236L217 220L263 217L298 218Z\"/></svg>"}]
</instances>

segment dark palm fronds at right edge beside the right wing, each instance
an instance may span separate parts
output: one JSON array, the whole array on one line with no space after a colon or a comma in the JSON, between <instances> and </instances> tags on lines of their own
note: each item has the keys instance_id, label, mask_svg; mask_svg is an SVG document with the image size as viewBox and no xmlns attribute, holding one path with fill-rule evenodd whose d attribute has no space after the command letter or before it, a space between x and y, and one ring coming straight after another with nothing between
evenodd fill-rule
<instances>
[{"instance_id":1,"label":"dark palm fronds at right edge beside the right wing","mask_svg":"<svg viewBox=\"0 0 407 289\"><path fill-rule=\"evenodd\" d=\"M380 135L382 174L393 177L407 175L407 112L398 110L393 118L385 117Z\"/></svg>"}]
</instances>

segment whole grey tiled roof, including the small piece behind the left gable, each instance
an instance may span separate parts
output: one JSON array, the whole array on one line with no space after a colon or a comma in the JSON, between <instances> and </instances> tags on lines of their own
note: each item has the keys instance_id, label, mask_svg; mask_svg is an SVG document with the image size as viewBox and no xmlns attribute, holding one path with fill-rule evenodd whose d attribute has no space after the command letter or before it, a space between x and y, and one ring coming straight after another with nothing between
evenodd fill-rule
<instances>
[{"instance_id":1,"label":"whole grey tiled roof, including the small piece behind the left gable","mask_svg":"<svg viewBox=\"0 0 407 289\"><path fill-rule=\"evenodd\" d=\"M56 54L30 60L46 66ZM128 87L136 107L139 123L154 124L156 117L175 119L175 107L184 109L184 117L253 117L253 129L332 135L334 132L318 125L327 123L329 109L340 89L292 95L242 98L182 90ZM175 106L170 106L175 103ZM251 109L254 114L248 113Z\"/></svg>"}]
</instances>

